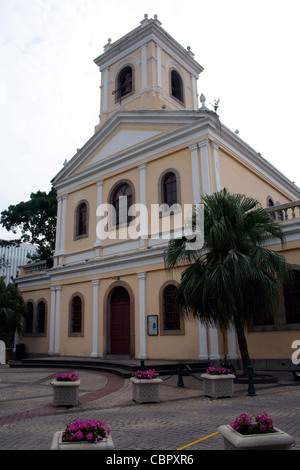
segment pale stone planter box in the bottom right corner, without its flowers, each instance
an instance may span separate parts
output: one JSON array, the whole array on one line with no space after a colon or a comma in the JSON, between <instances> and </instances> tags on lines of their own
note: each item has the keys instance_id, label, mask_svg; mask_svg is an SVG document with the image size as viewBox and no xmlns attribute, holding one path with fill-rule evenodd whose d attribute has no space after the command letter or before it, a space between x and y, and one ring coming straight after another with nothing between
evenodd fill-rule
<instances>
[{"instance_id":1,"label":"pale stone planter box in the bottom right corner, without its flowers","mask_svg":"<svg viewBox=\"0 0 300 470\"><path fill-rule=\"evenodd\" d=\"M274 428L276 432L243 435L231 426L223 425L218 431L224 440L225 450L288 450L295 442L289 434Z\"/></svg>"}]
</instances>

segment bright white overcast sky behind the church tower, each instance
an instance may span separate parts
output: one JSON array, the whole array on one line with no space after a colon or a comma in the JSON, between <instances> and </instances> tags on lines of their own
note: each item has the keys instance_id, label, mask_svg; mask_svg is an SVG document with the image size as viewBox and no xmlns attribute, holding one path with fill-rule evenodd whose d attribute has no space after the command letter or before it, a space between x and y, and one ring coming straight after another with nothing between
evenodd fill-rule
<instances>
[{"instance_id":1,"label":"bright white overcast sky behind the church tower","mask_svg":"<svg viewBox=\"0 0 300 470\"><path fill-rule=\"evenodd\" d=\"M93 135L93 61L145 13L191 47L207 107L220 98L222 123L300 186L299 0L0 0L0 212L49 191Z\"/></svg>"}]
</instances>

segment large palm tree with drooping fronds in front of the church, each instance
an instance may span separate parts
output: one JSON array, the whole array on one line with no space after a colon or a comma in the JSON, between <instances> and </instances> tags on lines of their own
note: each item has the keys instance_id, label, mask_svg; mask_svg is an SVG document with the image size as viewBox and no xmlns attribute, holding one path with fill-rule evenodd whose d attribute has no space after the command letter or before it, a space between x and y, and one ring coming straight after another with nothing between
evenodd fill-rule
<instances>
[{"instance_id":1,"label":"large palm tree with drooping fronds in front of the church","mask_svg":"<svg viewBox=\"0 0 300 470\"><path fill-rule=\"evenodd\" d=\"M203 197L204 245L187 250L185 237L170 240L168 269L184 266L176 303L186 315L226 329L234 324L244 372L251 365L245 328L270 316L282 283L290 279L285 258L266 247L284 242L280 226L256 199L227 189ZM193 223L198 208L195 208Z\"/></svg>"}]
</instances>

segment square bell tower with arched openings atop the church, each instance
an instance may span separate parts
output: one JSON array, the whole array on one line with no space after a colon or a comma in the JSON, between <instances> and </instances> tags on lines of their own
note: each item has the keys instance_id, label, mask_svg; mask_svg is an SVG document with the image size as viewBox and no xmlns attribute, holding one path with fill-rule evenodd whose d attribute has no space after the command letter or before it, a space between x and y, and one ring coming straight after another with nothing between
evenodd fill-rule
<instances>
[{"instance_id":1,"label":"square bell tower with arched openings atop the church","mask_svg":"<svg viewBox=\"0 0 300 470\"><path fill-rule=\"evenodd\" d=\"M162 27L157 15L116 42L108 39L94 62L101 73L100 123L119 111L196 110L203 67Z\"/></svg>"}]
</instances>

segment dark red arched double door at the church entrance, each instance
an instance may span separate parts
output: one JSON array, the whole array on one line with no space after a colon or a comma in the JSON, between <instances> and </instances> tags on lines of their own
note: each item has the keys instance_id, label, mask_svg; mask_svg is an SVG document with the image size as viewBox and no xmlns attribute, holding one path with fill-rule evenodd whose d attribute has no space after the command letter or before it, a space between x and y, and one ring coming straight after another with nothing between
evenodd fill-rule
<instances>
[{"instance_id":1,"label":"dark red arched double door at the church entrance","mask_svg":"<svg viewBox=\"0 0 300 470\"><path fill-rule=\"evenodd\" d=\"M130 297L125 287L116 287L110 301L111 354L130 354Z\"/></svg>"}]
</instances>

